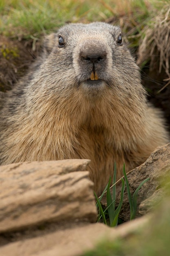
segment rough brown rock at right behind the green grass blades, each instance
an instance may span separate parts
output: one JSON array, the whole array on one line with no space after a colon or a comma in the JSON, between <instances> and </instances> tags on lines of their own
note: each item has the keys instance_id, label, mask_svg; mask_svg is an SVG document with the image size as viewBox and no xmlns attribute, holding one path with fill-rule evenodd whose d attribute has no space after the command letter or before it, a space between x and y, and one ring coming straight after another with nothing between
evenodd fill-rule
<instances>
[{"instance_id":1,"label":"rough brown rock at right behind the green grass blades","mask_svg":"<svg viewBox=\"0 0 170 256\"><path fill-rule=\"evenodd\" d=\"M131 194L135 192L139 184L146 178L150 178L138 193L137 217L145 215L154 207L154 204L162 198L163 191L160 189L163 184L170 182L170 143L157 147L150 157L137 168L127 174ZM157 191L157 192L155 192ZM120 192L117 193L117 204L120 200ZM105 202L106 204L106 202ZM125 221L130 219L130 209L127 191L124 193L124 203L121 210L121 218Z\"/></svg>"}]
</instances>

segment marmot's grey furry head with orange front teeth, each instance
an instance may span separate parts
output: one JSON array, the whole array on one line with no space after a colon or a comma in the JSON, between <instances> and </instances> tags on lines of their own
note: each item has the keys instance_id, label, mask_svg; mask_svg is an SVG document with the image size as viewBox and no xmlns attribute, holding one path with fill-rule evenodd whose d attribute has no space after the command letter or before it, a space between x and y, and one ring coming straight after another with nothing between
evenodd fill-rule
<instances>
[{"instance_id":1,"label":"marmot's grey furry head with orange front teeth","mask_svg":"<svg viewBox=\"0 0 170 256\"><path fill-rule=\"evenodd\" d=\"M49 56L44 75L53 77L52 90L77 90L92 101L110 91L122 101L144 94L119 27L104 22L69 24L47 37L45 47Z\"/></svg>"}]
</instances>

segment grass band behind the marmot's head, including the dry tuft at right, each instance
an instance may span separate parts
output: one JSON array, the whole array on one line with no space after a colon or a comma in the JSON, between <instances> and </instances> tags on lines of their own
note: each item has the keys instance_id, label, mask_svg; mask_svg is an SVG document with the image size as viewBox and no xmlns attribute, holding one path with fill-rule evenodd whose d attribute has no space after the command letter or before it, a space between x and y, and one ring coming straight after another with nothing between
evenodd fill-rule
<instances>
[{"instance_id":1,"label":"grass band behind the marmot's head, including the dry tuft at right","mask_svg":"<svg viewBox=\"0 0 170 256\"><path fill-rule=\"evenodd\" d=\"M111 22L120 25L124 41L128 47L133 47L134 53L141 44L137 60L141 68L151 60L153 65L158 63L159 72L163 68L170 77L170 43L167 45L164 40L169 33L169 8L169 0L1 0L0 34L26 39L33 43L35 51L40 37L56 31L66 22ZM147 47L146 41L149 42ZM160 61L155 60L157 49Z\"/></svg>"}]
</instances>

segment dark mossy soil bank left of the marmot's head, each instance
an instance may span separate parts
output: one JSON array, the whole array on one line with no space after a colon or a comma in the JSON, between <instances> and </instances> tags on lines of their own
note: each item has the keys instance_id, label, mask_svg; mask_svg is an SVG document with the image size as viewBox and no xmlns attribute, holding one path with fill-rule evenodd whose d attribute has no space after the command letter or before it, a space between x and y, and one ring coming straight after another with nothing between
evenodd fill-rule
<instances>
[{"instance_id":1,"label":"dark mossy soil bank left of the marmot's head","mask_svg":"<svg viewBox=\"0 0 170 256\"><path fill-rule=\"evenodd\" d=\"M0 36L0 91L11 90L26 73L38 54L32 49L32 41L18 41Z\"/></svg>"}]
</instances>

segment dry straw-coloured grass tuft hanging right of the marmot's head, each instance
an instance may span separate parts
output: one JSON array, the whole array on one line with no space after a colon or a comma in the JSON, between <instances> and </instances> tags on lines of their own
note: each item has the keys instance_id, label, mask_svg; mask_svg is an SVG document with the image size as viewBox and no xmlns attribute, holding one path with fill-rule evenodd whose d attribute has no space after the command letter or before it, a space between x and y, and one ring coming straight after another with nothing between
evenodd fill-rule
<instances>
[{"instance_id":1,"label":"dry straw-coloured grass tuft hanging right of the marmot's head","mask_svg":"<svg viewBox=\"0 0 170 256\"><path fill-rule=\"evenodd\" d=\"M170 5L168 2L161 11L157 10L155 13L157 15L141 31L137 64L142 66L146 61L150 61L150 70L157 69L161 73L163 69L169 77L165 79L168 81L165 85L167 86L170 84Z\"/></svg>"}]
</instances>

